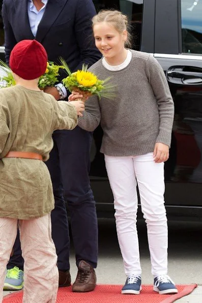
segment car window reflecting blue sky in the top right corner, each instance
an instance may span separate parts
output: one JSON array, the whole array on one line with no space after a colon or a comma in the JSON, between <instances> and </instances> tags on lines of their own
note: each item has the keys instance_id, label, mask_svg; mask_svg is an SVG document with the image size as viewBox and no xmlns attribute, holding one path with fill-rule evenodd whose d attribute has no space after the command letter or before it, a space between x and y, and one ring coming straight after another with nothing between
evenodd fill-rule
<instances>
[{"instance_id":1,"label":"car window reflecting blue sky in the top right corner","mask_svg":"<svg viewBox=\"0 0 202 303\"><path fill-rule=\"evenodd\" d=\"M182 52L202 54L202 0L181 0Z\"/></svg>"}]
</instances>

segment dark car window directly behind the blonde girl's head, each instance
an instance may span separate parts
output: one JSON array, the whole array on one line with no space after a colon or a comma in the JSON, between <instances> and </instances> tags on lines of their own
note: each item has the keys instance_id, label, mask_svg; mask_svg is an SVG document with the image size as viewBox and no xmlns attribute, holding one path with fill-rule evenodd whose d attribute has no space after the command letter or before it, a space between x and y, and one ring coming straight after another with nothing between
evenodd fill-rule
<instances>
[{"instance_id":1,"label":"dark car window directly behind the blonde girl's head","mask_svg":"<svg viewBox=\"0 0 202 303\"><path fill-rule=\"evenodd\" d=\"M96 11L103 9L116 9L126 14L130 21L132 35L132 48L140 49L143 0L94 0Z\"/></svg>"}]
</instances>

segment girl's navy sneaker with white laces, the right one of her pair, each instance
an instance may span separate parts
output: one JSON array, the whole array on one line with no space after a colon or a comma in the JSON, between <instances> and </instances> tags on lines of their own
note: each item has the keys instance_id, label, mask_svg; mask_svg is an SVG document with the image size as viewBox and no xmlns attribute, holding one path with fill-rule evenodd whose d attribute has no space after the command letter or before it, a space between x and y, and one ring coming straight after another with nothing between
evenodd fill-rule
<instances>
[{"instance_id":1,"label":"girl's navy sneaker with white laces, the right one of her pair","mask_svg":"<svg viewBox=\"0 0 202 303\"><path fill-rule=\"evenodd\" d=\"M175 283L170 279L167 274L161 274L154 278L154 291L159 294L174 294L178 293Z\"/></svg>"}]
</instances>

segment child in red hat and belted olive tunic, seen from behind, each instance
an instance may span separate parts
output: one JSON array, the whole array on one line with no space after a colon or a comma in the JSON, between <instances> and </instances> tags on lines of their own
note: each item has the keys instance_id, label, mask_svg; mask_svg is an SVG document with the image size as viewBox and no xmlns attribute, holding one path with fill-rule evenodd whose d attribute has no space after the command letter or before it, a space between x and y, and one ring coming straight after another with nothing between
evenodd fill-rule
<instances>
[{"instance_id":1,"label":"child in red hat and belted olive tunic, seen from behind","mask_svg":"<svg viewBox=\"0 0 202 303\"><path fill-rule=\"evenodd\" d=\"M0 303L5 269L20 229L24 258L24 303L55 303L57 256L51 238L54 198L44 163L52 132L73 129L82 101L56 101L38 88L47 54L36 40L23 40L11 52L16 86L0 90Z\"/></svg>"}]
</instances>

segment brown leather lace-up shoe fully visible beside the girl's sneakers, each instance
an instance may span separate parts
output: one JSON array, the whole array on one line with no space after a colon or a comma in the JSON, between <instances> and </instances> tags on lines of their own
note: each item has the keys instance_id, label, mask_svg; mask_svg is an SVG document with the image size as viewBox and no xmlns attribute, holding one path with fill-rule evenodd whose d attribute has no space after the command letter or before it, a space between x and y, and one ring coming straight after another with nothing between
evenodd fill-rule
<instances>
[{"instance_id":1,"label":"brown leather lace-up shoe fully visible beside the girl's sneakers","mask_svg":"<svg viewBox=\"0 0 202 303\"><path fill-rule=\"evenodd\" d=\"M96 287L96 274L93 267L85 261L80 261L76 281L72 285L73 292L88 292Z\"/></svg>"}]
</instances>

